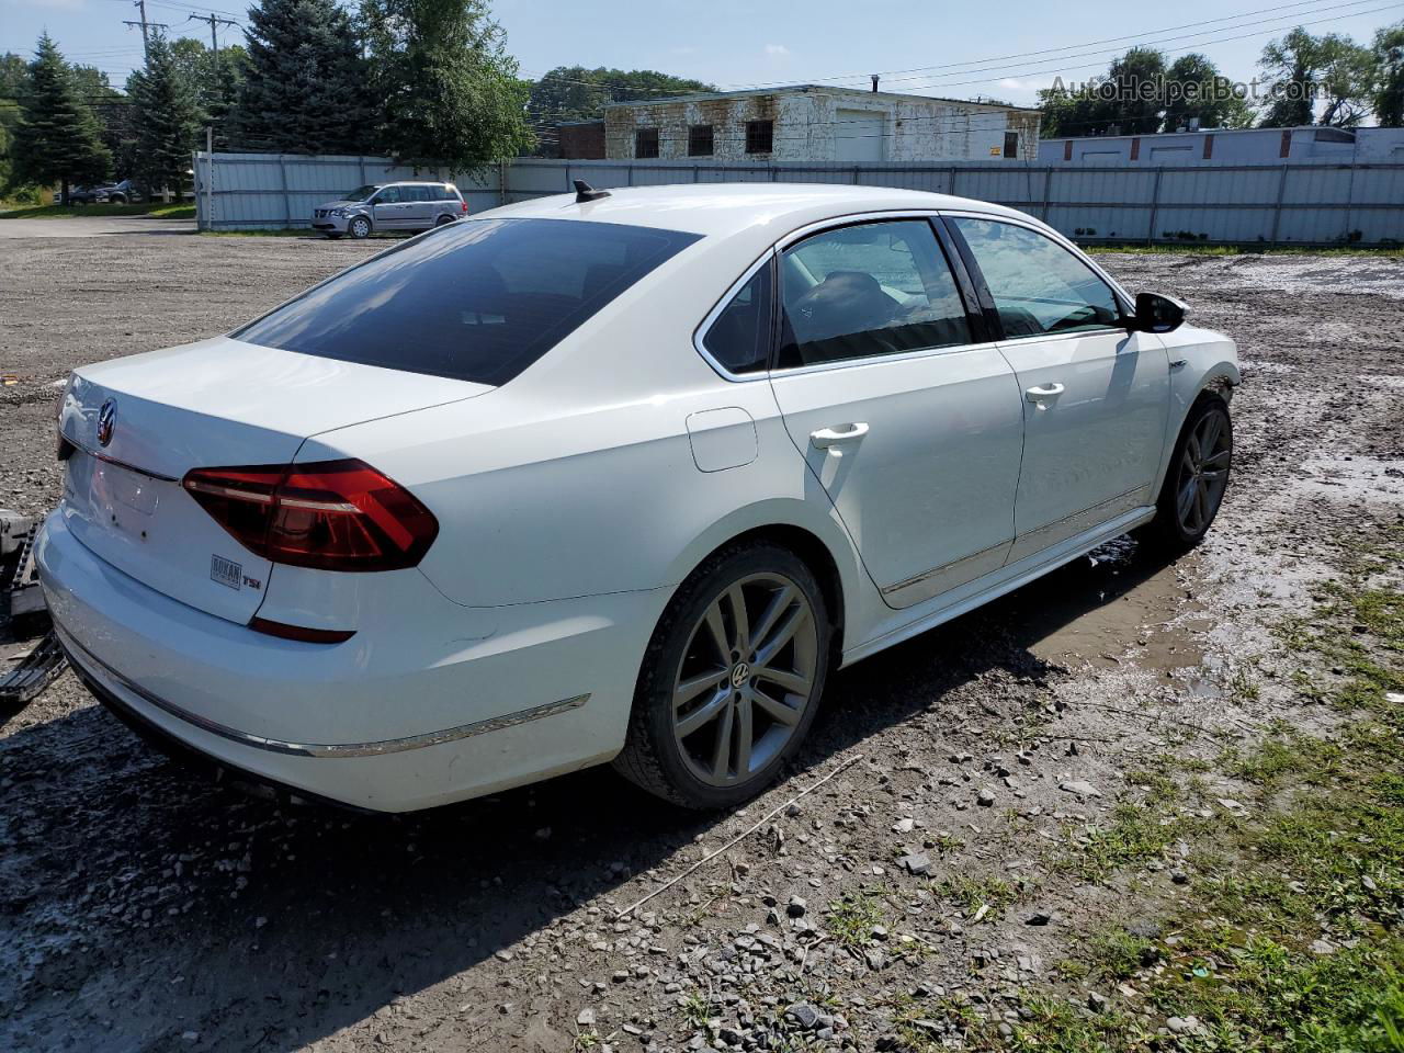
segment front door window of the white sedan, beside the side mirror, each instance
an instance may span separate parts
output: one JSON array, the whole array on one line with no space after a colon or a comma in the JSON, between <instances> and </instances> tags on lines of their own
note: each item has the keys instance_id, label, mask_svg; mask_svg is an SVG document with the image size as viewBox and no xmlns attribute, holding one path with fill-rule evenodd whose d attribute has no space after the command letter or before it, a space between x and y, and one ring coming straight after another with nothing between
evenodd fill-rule
<instances>
[{"instance_id":1,"label":"front door window of the white sedan, beside the side mirror","mask_svg":"<svg viewBox=\"0 0 1404 1053\"><path fill-rule=\"evenodd\" d=\"M1119 329L1116 295L1050 237L997 219L955 219L984 274L1007 337Z\"/></svg>"}]
</instances>

